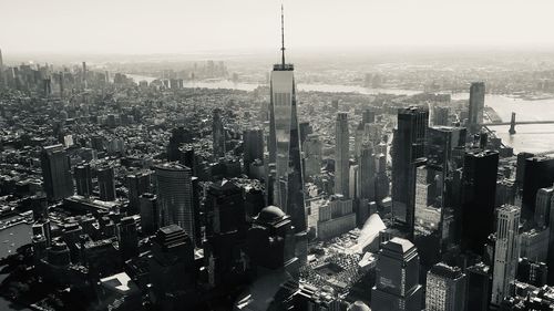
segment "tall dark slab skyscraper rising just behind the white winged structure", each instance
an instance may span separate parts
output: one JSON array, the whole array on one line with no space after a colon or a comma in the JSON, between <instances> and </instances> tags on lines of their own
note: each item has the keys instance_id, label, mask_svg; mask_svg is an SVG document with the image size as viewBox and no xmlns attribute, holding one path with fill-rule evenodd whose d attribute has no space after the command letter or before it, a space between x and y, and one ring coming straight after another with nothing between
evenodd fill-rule
<instances>
[{"instance_id":1,"label":"tall dark slab skyscraper rising just behind the white winged structure","mask_svg":"<svg viewBox=\"0 0 554 311\"><path fill-rule=\"evenodd\" d=\"M394 220L413 231L416 162L424 156L429 112L421 107L400 108L392 142L392 210Z\"/></svg>"}]
</instances>

